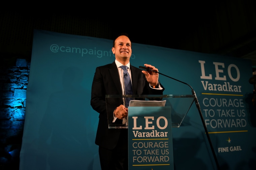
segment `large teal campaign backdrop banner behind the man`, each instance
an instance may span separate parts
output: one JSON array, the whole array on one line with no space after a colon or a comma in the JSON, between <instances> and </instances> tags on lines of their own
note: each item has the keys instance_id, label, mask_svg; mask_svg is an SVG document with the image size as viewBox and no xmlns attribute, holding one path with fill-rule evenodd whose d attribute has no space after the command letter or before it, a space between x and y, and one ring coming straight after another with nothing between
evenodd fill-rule
<instances>
[{"instance_id":1,"label":"large teal campaign backdrop banner behind the man","mask_svg":"<svg viewBox=\"0 0 256 170\"><path fill-rule=\"evenodd\" d=\"M100 169L91 86L96 67L115 60L112 42L34 30L20 170ZM193 87L220 167L255 169L250 60L132 43L130 63L151 64ZM181 82L159 81L164 94L192 94ZM172 144L175 170L217 169L195 103L172 128Z\"/></svg>"}]
</instances>

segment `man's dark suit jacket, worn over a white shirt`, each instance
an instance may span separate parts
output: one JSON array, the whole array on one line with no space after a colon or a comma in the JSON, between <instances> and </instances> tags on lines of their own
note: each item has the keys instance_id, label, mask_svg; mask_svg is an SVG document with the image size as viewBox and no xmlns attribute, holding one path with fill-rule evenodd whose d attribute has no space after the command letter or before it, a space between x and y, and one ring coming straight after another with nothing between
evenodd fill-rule
<instances>
[{"instance_id":1,"label":"man's dark suit jacket, worn over a white shirt","mask_svg":"<svg viewBox=\"0 0 256 170\"><path fill-rule=\"evenodd\" d=\"M133 94L163 94L162 90L152 89L147 82L147 79L141 70L130 65L132 89ZM120 84L120 78L115 61L111 64L100 66L96 68L91 93L91 106L99 113L99 124L96 134L95 143L101 147L107 149L113 149L119 139L121 129L109 129L107 123L107 110L105 95L121 95L122 87ZM120 104L123 104L123 100L119 99L113 103L113 110ZM117 122L121 121L117 119Z\"/></svg>"}]
</instances>

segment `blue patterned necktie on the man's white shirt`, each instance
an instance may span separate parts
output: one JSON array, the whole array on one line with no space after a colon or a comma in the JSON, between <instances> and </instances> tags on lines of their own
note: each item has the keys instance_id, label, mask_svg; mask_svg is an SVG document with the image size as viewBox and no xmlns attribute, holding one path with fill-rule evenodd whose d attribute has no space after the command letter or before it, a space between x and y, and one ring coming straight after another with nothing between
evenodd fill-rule
<instances>
[{"instance_id":1,"label":"blue patterned necktie on the man's white shirt","mask_svg":"<svg viewBox=\"0 0 256 170\"><path fill-rule=\"evenodd\" d=\"M121 66L121 68L124 70L124 88L125 88L125 94L132 94L132 82L130 79L130 75L127 71L127 66ZM128 108L131 98L125 98L125 107Z\"/></svg>"}]
</instances>

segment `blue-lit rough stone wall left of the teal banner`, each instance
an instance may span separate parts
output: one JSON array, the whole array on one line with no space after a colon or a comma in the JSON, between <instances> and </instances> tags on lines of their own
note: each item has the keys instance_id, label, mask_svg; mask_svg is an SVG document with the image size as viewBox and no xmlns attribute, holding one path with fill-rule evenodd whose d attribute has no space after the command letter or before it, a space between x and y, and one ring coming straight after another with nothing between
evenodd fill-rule
<instances>
[{"instance_id":1,"label":"blue-lit rough stone wall left of the teal banner","mask_svg":"<svg viewBox=\"0 0 256 170\"><path fill-rule=\"evenodd\" d=\"M0 66L0 169L18 170L30 62L9 58Z\"/></svg>"}]
</instances>

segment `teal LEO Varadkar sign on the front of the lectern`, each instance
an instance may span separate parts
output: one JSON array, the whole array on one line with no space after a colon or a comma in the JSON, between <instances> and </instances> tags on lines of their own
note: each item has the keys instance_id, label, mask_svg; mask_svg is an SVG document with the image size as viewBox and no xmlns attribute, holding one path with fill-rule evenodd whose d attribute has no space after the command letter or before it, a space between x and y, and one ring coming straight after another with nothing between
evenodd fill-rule
<instances>
[{"instance_id":1,"label":"teal LEO Varadkar sign on the front of the lectern","mask_svg":"<svg viewBox=\"0 0 256 170\"><path fill-rule=\"evenodd\" d=\"M173 170L171 109L128 107L129 170Z\"/></svg>"}]
</instances>

